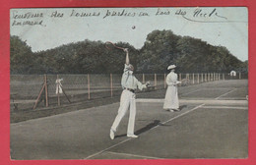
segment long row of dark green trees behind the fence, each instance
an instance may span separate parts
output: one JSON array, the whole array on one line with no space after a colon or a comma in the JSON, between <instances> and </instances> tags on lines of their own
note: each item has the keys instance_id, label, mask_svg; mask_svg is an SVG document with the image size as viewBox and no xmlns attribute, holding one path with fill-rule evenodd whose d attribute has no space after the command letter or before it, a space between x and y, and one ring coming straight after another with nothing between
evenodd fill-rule
<instances>
[{"instance_id":1,"label":"long row of dark green trees behind the fence","mask_svg":"<svg viewBox=\"0 0 256 165\"><path fill-rule=\"evenodd\" d=\"M171 30L154 30L144 46L136 49L129 43L131 63L137 73L163 73L170 64L179 72L247 72L241 62L223 46L213 46L189 36L175 35ZM11 36L11 74L98 74L121 73L125 53L107 49L101 41L84 40L57 48L32 52L26 41Z\"/></svg>"}]
</instances>

